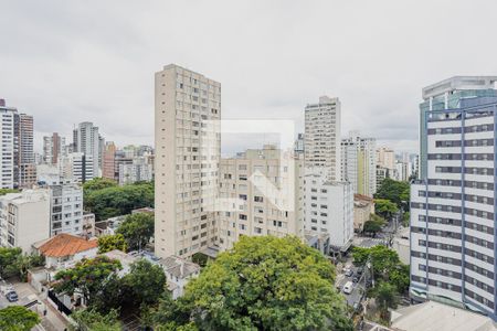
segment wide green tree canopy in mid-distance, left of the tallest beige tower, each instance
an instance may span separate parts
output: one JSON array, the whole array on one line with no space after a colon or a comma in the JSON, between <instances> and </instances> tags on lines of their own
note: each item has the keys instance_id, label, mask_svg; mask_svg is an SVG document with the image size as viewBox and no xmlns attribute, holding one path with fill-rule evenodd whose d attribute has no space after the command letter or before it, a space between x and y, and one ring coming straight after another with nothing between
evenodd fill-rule
<instances>
[{"instance_id":1,"label":"wide green tree canopy in mid-distance, left of the tallest beige tower","mask_svg":"<svg viewBox=\"0 0 497 331\"><path fill-rule=\"evenodd\" d=\"M129 214L133 210L154 206L154 183L124 186L110 185L99 190L86 190L85 210L95 214L97 221Z\"/></svg>"}]
</instances>

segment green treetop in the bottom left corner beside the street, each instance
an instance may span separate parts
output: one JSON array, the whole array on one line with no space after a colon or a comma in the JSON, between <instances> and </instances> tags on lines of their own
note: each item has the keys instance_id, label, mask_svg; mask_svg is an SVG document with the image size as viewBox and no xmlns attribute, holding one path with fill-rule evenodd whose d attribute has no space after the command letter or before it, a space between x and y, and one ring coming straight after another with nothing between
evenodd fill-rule
<instances>
[{"instance_id":1,"label":"green treetop in the bottom left corner beside the street","mask_svg":"<svg viewBox=\"0 0 497 331\"><path fill-rule=\"evenodd\" d=\"M0 330L2 331L29 331L40 321L38 313L23 306L0 309Z\"/></svg>"}]
</instances>

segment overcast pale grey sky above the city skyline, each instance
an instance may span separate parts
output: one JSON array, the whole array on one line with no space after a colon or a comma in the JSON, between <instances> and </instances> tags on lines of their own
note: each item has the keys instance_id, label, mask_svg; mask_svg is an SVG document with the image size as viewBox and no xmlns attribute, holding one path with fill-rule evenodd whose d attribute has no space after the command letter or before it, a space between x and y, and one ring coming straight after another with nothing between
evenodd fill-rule
<instances>
[{"instance_id":1,"label":"overcast pale grey sky above the city skyline","mask_svg":"<svg viewBox=\"0 0 497 331\"><path fill-rule=\"evenodd\" d=\"M306 104L328 95L342 136L416 152L422 87L496 75L496 22L493 0L0 0L0 98L34 116L39 151L81 121L152 145L154 73L176 63L222 84L223 119L302 131Z\"/></svg>"}]
</instances>

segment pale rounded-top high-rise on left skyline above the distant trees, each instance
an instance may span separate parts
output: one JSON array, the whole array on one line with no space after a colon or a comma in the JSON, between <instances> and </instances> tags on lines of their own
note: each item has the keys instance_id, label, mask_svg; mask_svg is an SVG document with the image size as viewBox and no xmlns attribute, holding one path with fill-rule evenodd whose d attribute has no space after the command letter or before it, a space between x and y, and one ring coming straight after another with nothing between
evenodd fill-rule
<instances>
[{"instance_id":1,"label":"pale rounded-top high-rise on left skyline above the distant trees","mask_svg":"<svg viewBox=\"0 0 497 331\"><path fill-rule=\"evenodd\" d=\"M87 160L92 160L92 178L101 175L102 169L102 137L98 127L91 121L81 122L74 134L75 152L83 153Z\"/></svg>"}]
</instances>

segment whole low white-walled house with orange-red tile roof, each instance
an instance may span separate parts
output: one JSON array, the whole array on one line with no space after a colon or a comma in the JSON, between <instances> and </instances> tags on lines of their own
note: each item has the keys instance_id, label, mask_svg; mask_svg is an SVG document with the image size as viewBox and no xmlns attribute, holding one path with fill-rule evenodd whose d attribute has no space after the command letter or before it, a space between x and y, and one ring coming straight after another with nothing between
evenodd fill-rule
<instances>
[{"instance_id":1,"label":"whole low white-walled house with orange-red tile roof","mask_svg":"<svg viewBox=\"0 0 497 331\"><path fill-rule=\"evenodd\" d=\"M61 233L33 243L32 248L34 253L45 257L45 268L60 270L74 267L83 258L94 258L98 253L98 242Z\"/></svg>"}]
</instances>

